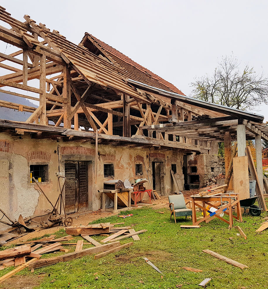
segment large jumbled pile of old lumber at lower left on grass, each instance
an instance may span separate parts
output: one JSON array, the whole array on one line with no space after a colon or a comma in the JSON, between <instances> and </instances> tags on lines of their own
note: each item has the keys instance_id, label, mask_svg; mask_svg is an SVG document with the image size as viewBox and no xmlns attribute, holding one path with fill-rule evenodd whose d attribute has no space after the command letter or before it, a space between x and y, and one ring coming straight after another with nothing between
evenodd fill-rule
<instances>
[{"instance_id":1,"label":"large jumbled pile of old lumber at lower left on grass","mask_svg":"<svg viewBox=\"0 0 268 289\"><path fill-rule=\"evenodd\" d=\"M133 244L133 242L129 242L127 244L121 245L119 240L128 237L132 237L133 240L140 240L139 236L137 235L147 231L135 231L134 229L131 229L131 226L115 227L119 224L124 223L101 223L88 226L66 227L66 233L71 232L74 236L81 235L81 237L87 242L84 242L83 240L78 240L76 243L62 243L64 241L70 241L71 239L73 239L71 234L57 239L55 239L56 235L52 235L39 240L18 243L16 244L18 245L17 247L0 251L0 270L10 266L15 266L14 270L0 277L0 283L26 267L29 270L33 271L35 268L40 268L56 264L58 262L65 262L72 259L81 258L83 256L95 253L97 254L95 254L94 259L102 258L110 253L115 253L122 249L128 248ZM101 240L100 242L103 244L100 244L90 235L102 235L107 238ZM94 247L83 249L83 245L85 244L92 244L94 245ZM67 253L69 252L69 250L64 249L64 246L75 246L75 251ZM66 254L55 256L52 258L40 259L42 254L55 251L62 251Z\"/></svg>"}]
</instances>

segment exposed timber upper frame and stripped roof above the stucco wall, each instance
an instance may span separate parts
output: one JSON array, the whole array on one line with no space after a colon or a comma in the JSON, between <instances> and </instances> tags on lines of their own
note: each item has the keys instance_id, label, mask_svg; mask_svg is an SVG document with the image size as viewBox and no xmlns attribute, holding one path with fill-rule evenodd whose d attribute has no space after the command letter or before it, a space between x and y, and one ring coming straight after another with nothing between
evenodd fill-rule
<instances>
[{"instance_id":1,"label":"exposed timber upper frame and stripped roof above the stucco wall","mask_svg":"<svg viewBox=\"0 0 268 289\"><path fill-rule=\"evenodd\" d=\"M39 106L0 100L1 107L32 113L25 122L0 120L1 131L189 153L209 153L211 142L225 141L230 147L237 140L239 156L245 154L246 139L256 138L258 146L261 138L268 141L263 116L186 97L88 33L76 45L30 16L24 19L0 6L0 21L8 25L0 26L0 40L19 48L0 53L0 67L9 70L0 85L20 92L1 91ZM39 80L38 87L31 80ZM257 147L259 173L260 153Z\"/></svg>"}]
</instances>

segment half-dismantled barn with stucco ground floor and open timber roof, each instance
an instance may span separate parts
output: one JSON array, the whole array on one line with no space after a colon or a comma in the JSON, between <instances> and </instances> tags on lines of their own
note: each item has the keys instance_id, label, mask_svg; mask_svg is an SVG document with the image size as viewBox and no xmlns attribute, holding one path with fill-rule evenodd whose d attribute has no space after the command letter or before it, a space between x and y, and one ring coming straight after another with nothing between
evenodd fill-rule
<instances>
[{"instance_id":1,"label":"half-dismantled barn with stucco ground floor and open timber roof","mask_svg":"<svg viewBox=\"0 0 268 289\"><path fill-rule=\"evenodd\" d=\"M187 97L87 32L76 45L28 15L23 22L13 18L1 6L0 21L0 40L14 49L0 53L0 91L38 103L0 100L0 107L30 113L23 122L0 115L2 233L9 227L27 231L33 219L43 228L64 219L68 226L73 213L119 213L213 185L224 187L219 193L235 194L226 205L232 227L230 196L235 204L250 197L248 169L253 176L255 167L248 167L246 140L252 139L259 204L266 210L261 139L268 141L268 127L262 115ZM239 160L234 163L233 141ZM219 142L225 159L218 156ZM226 208L221 206L223 213ZM78 229L117 236L129 229L90 226ZM69 228L70 234L78 229Z\"/></svg>"}]
</instances>

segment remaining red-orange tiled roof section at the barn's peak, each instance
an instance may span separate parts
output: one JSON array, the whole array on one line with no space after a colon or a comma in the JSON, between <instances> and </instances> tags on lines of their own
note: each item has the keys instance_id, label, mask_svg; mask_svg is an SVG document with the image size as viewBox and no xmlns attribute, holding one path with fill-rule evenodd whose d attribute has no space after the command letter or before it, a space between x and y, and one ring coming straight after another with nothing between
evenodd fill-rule
<instances>
[{"instance_id":1,"label":"remaining red-orange tiled roof section at the barn's peak","mask_svg":"<svg viewBox=\"0 0 268 289\"><path fill-rule=\"evenodd\" d=\"M133 61L120 51L113 48L112 46L104 43L103 41L99 40L98 38L87 32L85 33L85 35L88 36L88 39L94 45L97 44L97 47L101 50L101 52L103 52L104 54L107 53L115 62L117 62L117 64L119 64L122 68L124 68L128 74L126 76L128 76L129 78L160 89L165 89L170 92L185 95L180 91L180 89L175 87L173 84L164 80L160 76L154 74L147 68L139 65L139 63Z\"/></svg>"}]
</instances>

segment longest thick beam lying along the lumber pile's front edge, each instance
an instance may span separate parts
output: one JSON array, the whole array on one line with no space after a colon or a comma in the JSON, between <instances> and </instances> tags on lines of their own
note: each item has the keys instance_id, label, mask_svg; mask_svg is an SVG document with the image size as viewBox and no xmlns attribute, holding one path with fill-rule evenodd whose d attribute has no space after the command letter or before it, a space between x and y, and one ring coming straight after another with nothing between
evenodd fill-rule
<instances>
[{"instance_id":1,"label":"longest thick beam lying along the lumber pile's front edge","mask_svg":"<svg viewBox=\"0 0 268 289\"><path fill-rule=\"evenodd\" d=\"M83 249L82 251L79 251L79 252L71 252L71 253L61 255L61 256L56 256L56 257L46 258L46 259L40 259L38 261L35 261L31 265L29 265L28 268L29 268L29 270L31 270L32 268L35 269L35 268L45 267L45 266L56 264L58 262L66 262L66 261L69 261L72 259L81 258L81 257L86 256L86 255L107 251L107 250L110 250L110 249L118 247L118 246L120 246L120 242L112 242L109 244L103 244L100 246L91 247L88 249Z\"/></svg>"}]
</instances>

